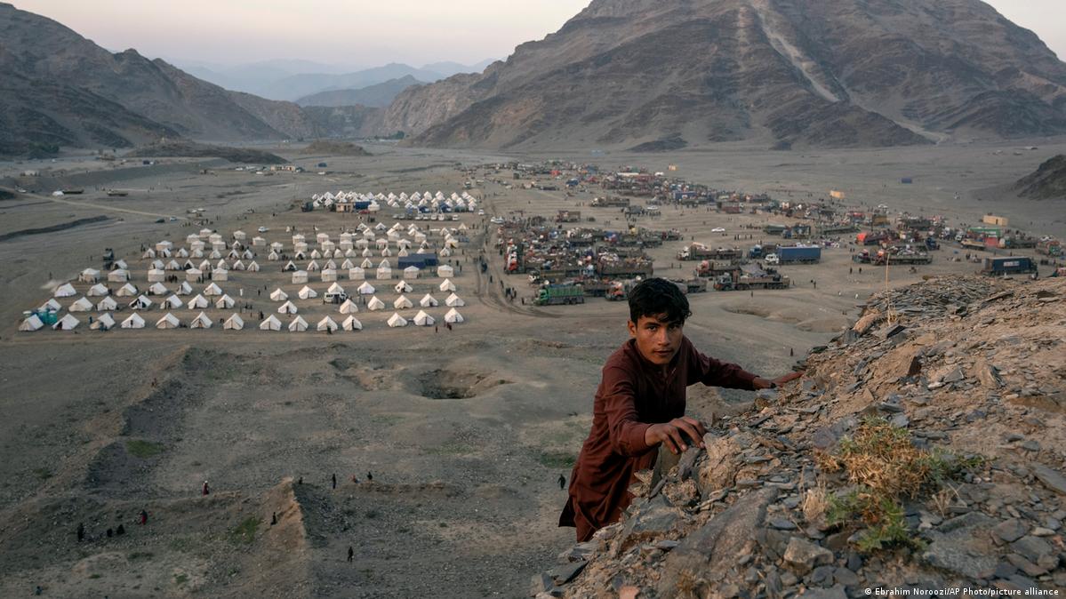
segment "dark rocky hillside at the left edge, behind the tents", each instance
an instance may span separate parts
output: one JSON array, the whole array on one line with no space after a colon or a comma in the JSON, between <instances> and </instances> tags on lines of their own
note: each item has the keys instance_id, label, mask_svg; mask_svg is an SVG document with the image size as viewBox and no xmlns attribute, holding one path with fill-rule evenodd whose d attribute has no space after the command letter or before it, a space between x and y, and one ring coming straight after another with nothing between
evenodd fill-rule
<instances>
[{"instance_id":1,"label":"dark rocky hillside at the left edge, behind the tents","mask_svg":"<svg viewBox=\"0 0 1066 599\"><path fill-rule=\"evenodd\" d=\"M160 136L251 141L311 135L300 107L228 92L135 50L111 53L0 3L0 153L35 144L127 147Z\"/></svg>"}]
</instances>

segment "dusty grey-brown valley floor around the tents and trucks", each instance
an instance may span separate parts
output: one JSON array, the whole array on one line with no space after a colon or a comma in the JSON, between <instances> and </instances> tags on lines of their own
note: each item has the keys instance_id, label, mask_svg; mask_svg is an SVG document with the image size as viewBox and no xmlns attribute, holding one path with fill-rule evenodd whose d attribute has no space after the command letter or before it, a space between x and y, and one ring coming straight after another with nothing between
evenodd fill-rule
<instances>
[{"instance_id":1,"label":"dusty grey-brown valley floor around the tents and trucks","mask_svg":"<svg viewBox=\"0 0 1066 599\"><path fill-rule=\"evenodd\" d=\"M200 228L184 226L191 208L206 208L210 227L224 234L266 226L264 237L274 241L288 237L287 225L339 232L357 221L302 214L292 201L338 189L450 193L464 180L456 162L497 158L388 146L368 146L375 155L370 158L271 149L312 173L257 177L214 161L112 168L68 160L56 163L63 177L21 181L37 183L29 189L44 194L0 203L0 236L111 217L0 242L0 595L25 596L41 585L52 597L517 597L529 574L570 545L572 532L554 525L565 497L556 477L568 473L587 431L600 366L625 339L623 304L511 306L496 282L500 264L494 260L492 284L472 266L455 277L468 322L451 333L389 329L384 321L391 309L360 311L364 331L333 336L217 328L97 334L84 325L77 334L16 333L22 310L47 300L50 281L98 268L103 247L136 259L143 243L182 242ZM749 191L843 189L861 204L924 208L966 222L995 206L1038 223L1034 232L1063 236L1061 206L969 199L973 190L1031 171L1049 152L1053 148L1015 156L1014 146L1005 146L569 158L603 166L677 163L679 176ZM319 161L329 163L329 175L313 174ZM31 167L59 166L2 164L0 175ZM213 174L201 175L201 168ZM902 176L915 177L915 184L901 187ZM84 187L86 193L52 198L46 185ZM130 194L108 197L96 188ZM615 214L587 208L594 194L565 198L496 184L474 193L485 196L490 214L554 214L578 203L598 224ZM733 232L744 232L740 227L761 224L750 216L664 212L642 224L685 229L713 244L713 227L727 228L721 243L731 245ZM388 210L382 214L390 225ZM179 221L156 223L171 215ZM469 214L464 222L481 220ZM466 249L482 241L472 237ZM655 250L657 274L687 275L694 263L672 259L680 245ZM893 270L890 285L975 268L949 262L950 256L950 248L938 253L918 275ZM142 285L144 268L135 263L134 282ZM227 292L245 287L257 310L274 304L252 298L251 290L282 281L271 271L274 263L260 264L270 272L231 273L232 281L220 284ZM883 272L849 275L850 265L846 248L828 250L822 264L784 269L801 284L791 290L693 295L695 315L685 333L708 354L762 374L785 372L794 360L790 349L798 357L824 343L854 318L856 294L865 298L885 286ZM408 295L417 301L434 280L419 281ZM523 276L504 280L532 294ZM397 294L387 289L379 296L389 303ZM330 313L313 302L301 304L312 325ZM229 312L208 310L214 319ZM163 312L150 313L158 319ZM183 308L175 313L192 315ZM437 399L455 394L469 396ZM745 395L729 393L723 402L712 390L690 393L693 411L702 417L739 409ZM213 489L208 498L199 496L205 480ZM134 523L142 508L150 514L145 528ZM278 523L271 525L275 513ZM93 540L76 541L78 522ZM104 536L119 523L124 536ZM350 546L352 564L345 560Z\"/></svg>"}]
</instances>

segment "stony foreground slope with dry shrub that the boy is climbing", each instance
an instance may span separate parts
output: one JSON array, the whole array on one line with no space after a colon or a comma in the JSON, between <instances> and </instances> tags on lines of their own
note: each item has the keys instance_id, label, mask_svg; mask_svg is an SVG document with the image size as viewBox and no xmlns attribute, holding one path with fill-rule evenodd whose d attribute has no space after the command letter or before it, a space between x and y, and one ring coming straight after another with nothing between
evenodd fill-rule
<instances>
[{"instance_id":1,"label":"stony foreground slope with dry shrub that the boy is climbing","mask_svg":"<svg viewBox=\"0 0 1066 599\"><path fill-rule=\"evenodd\" d=\"M1064 345L1064 279L877 295L806 376L720 419L706 451L661 458L625 519L531 594L1062 589Z\"/></svg>"}]
</instances>

